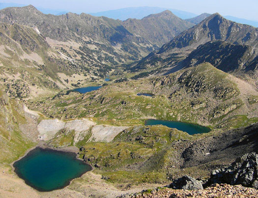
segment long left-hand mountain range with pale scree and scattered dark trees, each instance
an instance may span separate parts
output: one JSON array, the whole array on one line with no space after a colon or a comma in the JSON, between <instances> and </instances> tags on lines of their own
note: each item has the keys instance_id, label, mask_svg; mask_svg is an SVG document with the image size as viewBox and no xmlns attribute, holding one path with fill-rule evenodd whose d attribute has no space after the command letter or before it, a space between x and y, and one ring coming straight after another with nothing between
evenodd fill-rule
<instances>
[{"instance_id":1,"label":"long left-hand mountain range with pale scree and scattered dark trees","mask_svg":"<svg viewBox=\"0 0 258 198\"><path fill-rule=\"evenodd\" d=\"M45 15L30 5L0 10L0 16L1 81L21 98L96 83L193 26L170 11L123 22L84 13Z\"/></svg>"}]
</instances>

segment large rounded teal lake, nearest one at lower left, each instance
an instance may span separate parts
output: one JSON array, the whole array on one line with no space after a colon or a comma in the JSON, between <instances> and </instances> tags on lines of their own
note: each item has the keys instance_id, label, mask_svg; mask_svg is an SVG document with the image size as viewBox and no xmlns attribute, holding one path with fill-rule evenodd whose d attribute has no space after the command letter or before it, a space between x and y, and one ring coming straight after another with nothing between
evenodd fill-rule
<instances>
[{"instance_id":1,"label":"large rounded teal lake, nearest one at lower left","mask_svg":"<svg viewBox=\"0 0 258 198\"><path fill-rule=\"evenodd\" d=\"M35 148L13 164L14 171L38 191L53 191L69 185L91 167L72 152Z\"/></svg>"}]
</instances>

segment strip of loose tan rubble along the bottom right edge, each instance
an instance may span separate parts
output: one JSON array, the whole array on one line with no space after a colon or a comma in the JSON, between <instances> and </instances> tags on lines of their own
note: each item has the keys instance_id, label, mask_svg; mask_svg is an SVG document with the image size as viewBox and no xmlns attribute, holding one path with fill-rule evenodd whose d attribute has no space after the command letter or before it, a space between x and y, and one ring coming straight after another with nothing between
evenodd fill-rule
<instances>
[{"instance_id":1,"label":"strip of loose tan rubble along the bottom right edge","mask_svg":"<svg viewBox=\"0 0 258 198\"><path fill-rule=\"evenodd\" d=\"M258 190L241 185L217 184L204 190L174 190L170 188L141 193L133 198L257 198Z\"/></svg>"}]
</instances>

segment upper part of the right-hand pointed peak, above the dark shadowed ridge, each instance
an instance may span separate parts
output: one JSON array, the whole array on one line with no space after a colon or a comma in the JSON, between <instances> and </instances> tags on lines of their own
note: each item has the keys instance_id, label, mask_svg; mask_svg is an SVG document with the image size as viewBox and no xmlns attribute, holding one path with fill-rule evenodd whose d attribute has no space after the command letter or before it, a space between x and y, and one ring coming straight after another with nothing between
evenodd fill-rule
<instances>
[{"instance_id":1,"label":"upper part of the right-hand pointed peak, above the dark shadowed ridge","mask_svg":"<svg viewBox=\"0 0 258 198\"><path fill-rule=\"evenodd\" d=\"M158 54L175 49L195 49L212 40L224 40L233 44L247 44L258 48L258 28L237 24L215 13L197 26L190 28L165 44Z\"/></svg>"}]
</instances>

